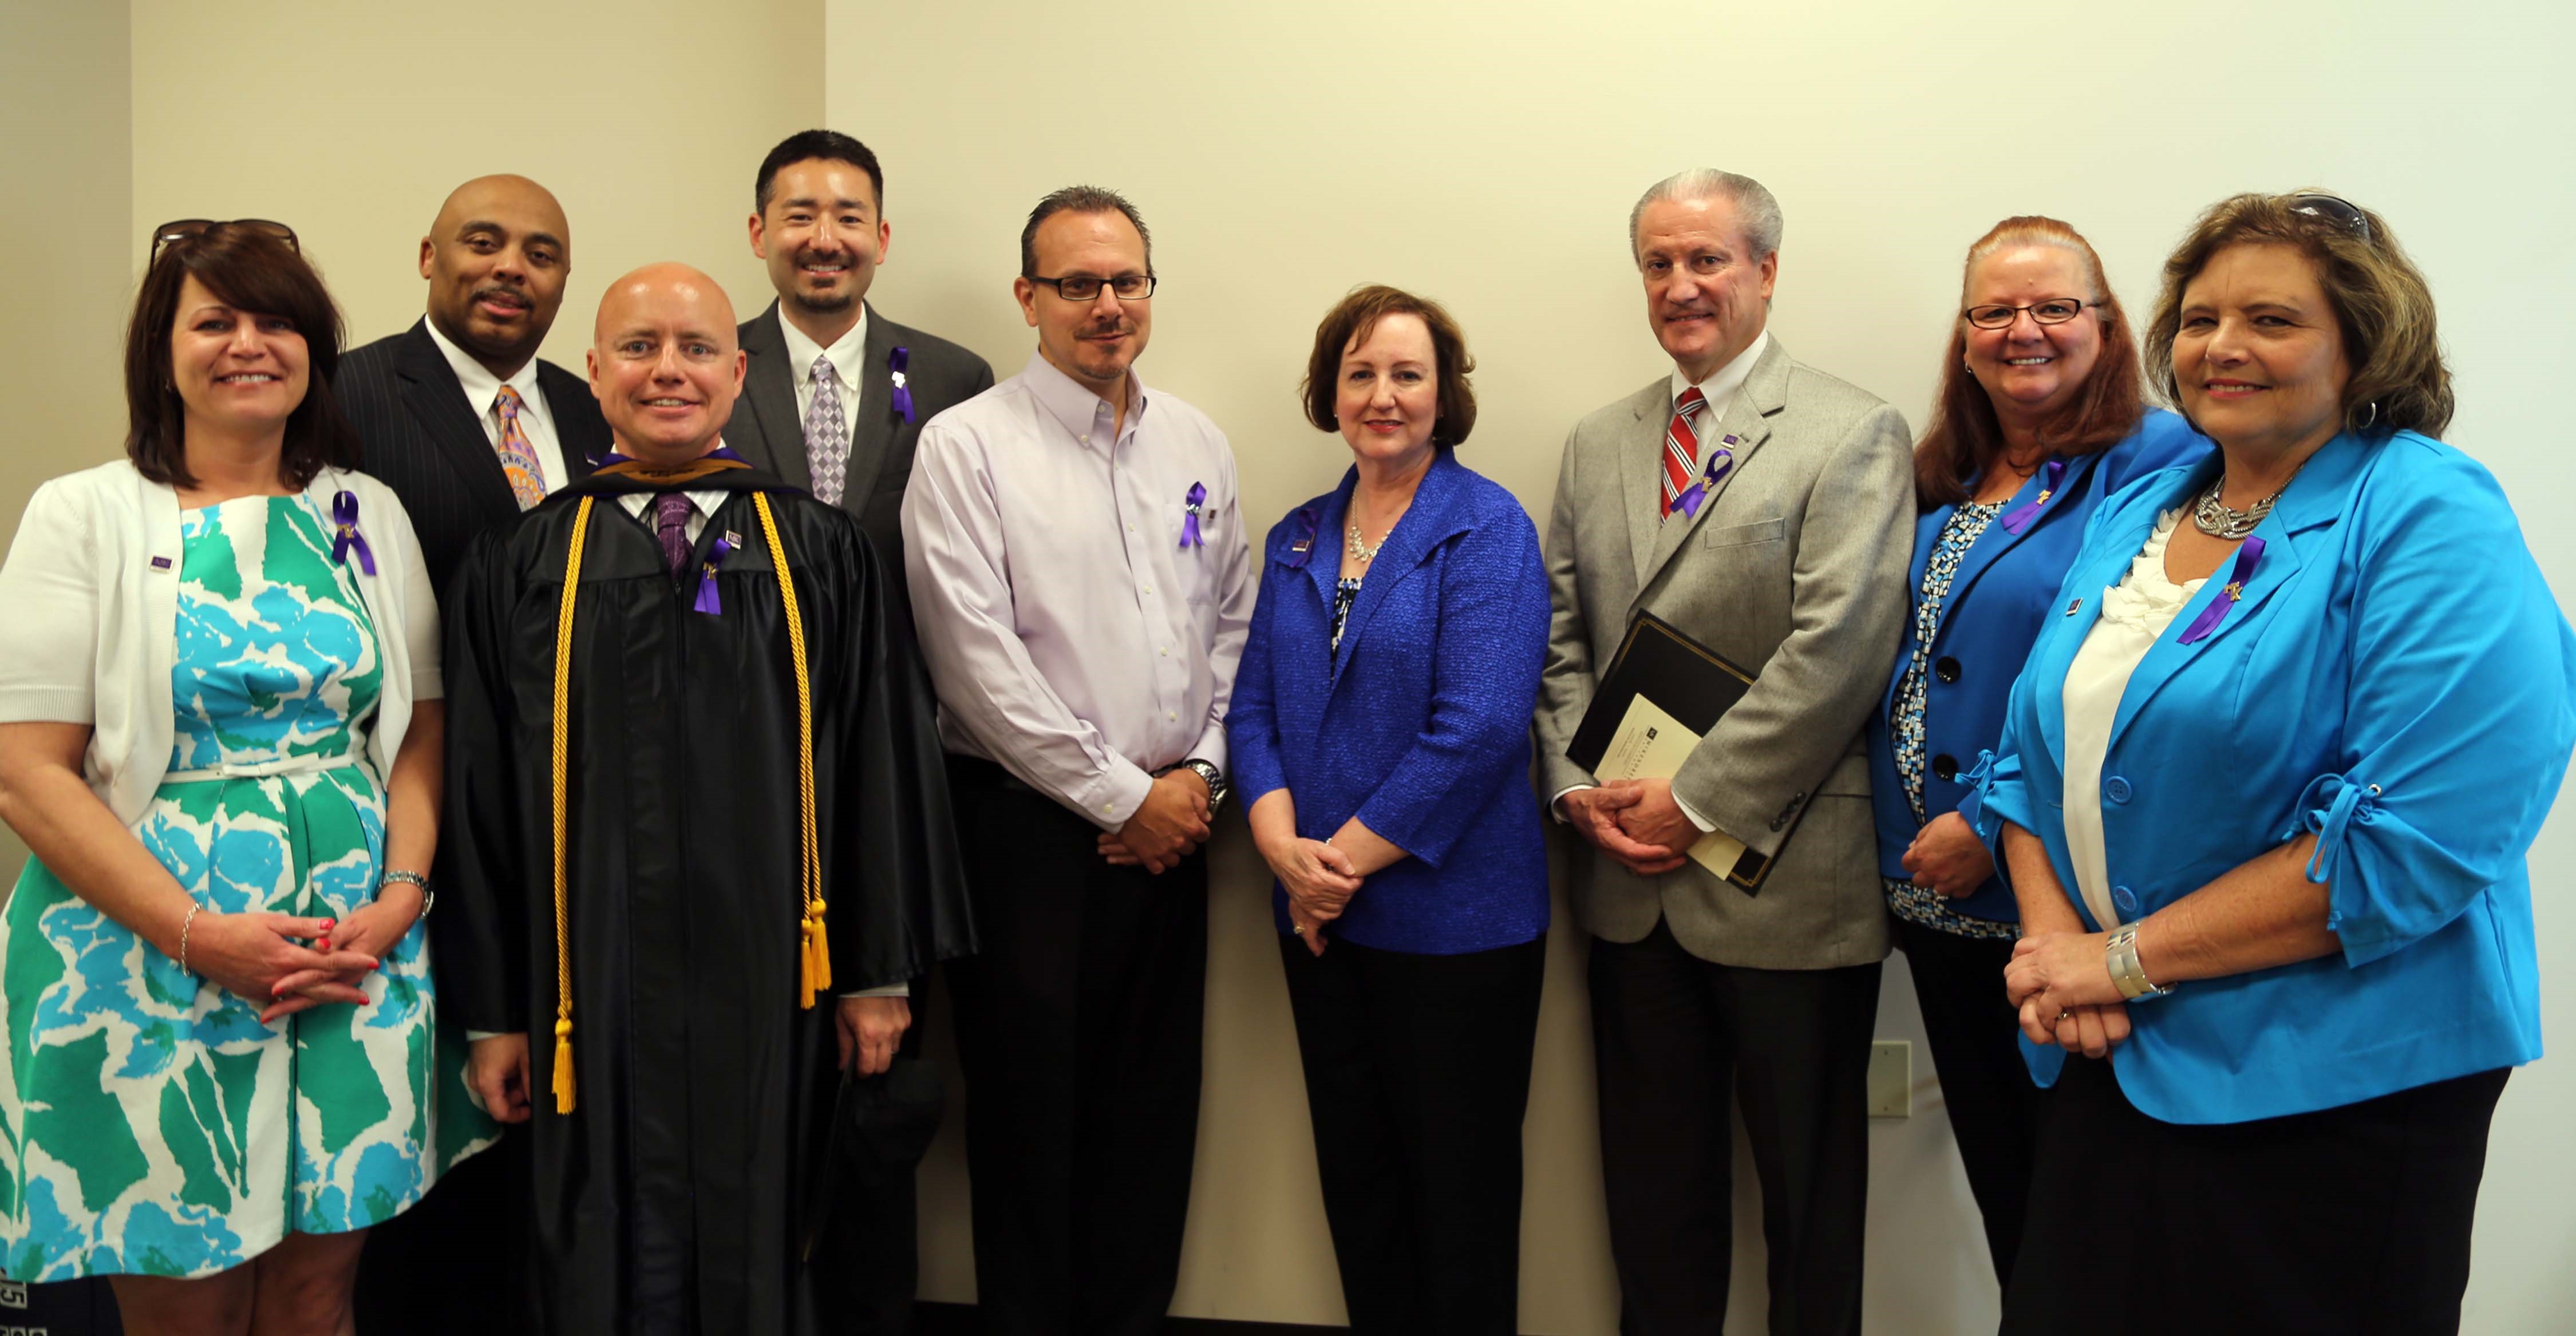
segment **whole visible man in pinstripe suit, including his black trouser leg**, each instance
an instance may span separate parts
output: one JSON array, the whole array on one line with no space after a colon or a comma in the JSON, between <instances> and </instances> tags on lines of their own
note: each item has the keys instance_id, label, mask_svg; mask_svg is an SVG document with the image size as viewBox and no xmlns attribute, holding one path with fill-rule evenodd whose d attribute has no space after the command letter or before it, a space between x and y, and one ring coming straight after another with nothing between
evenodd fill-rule
<instances>
[{"instance_id":1,"label":"whole visible man in pinstripe suit, including his black trouser leg","mask_svg":"<svg viewBox=\"0 0 2576 1336\"><path fill-rule=\"evenodd\" d=\"M358 427L358 466L402 497L440 595L477 533L608 453L590 384L536 358L569 270L572 229L544 185L469 180L420 239L428 314L340 358L332 391ZM358 1264L361 1331L523 1331L528 1192L528 1138L507 1133L374 1230Z\"/></svg>"}]
</instances>

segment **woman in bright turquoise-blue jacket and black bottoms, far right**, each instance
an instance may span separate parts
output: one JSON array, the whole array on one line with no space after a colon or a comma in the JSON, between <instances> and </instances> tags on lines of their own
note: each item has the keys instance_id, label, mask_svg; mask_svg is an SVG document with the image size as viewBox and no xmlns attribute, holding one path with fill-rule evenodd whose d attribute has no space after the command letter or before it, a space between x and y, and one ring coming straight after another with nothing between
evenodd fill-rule
<instances>
[{"instance_id":1,"label":"woman in bright turquoise-blue jacket and black bottoms, far right","mask_svg":"<svg viewBox=\"0 0 2576 1336\"><path fill-rule=\"evenodd\" d=\"M2576 636L2432 438L2432 293L2375 214L2210 209L2148 366L2221 458L2094 515L1973 775L2056 1084L2004 1331L2455 1331L2540 1055Z\"/></svg>"}]
</instances>

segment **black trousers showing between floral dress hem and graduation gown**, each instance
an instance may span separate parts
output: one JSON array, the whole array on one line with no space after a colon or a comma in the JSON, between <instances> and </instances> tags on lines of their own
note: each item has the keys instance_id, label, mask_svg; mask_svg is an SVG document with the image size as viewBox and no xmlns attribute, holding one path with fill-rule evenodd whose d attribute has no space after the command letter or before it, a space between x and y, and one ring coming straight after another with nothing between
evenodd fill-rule
<instances>
[{"instance_id":1,"label":"black trousers showing between floral dress hem and graduation gown","mask_svg":"<svg viewBox=\"0 0 2576 1336\"><path fill-rule=\"evenodd\" d=\"M366 1230L358 1331L368 1336L520 1336L536 1328L528 1130L438 1176L412 1210Z\"/></svg>"}]
</instances>

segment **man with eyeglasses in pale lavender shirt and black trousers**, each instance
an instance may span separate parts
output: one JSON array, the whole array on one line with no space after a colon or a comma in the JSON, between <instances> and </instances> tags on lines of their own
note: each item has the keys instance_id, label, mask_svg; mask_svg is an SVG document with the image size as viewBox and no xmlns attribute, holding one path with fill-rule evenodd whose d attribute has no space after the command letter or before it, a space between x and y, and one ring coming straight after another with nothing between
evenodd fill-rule
<instances>
[{"instance_id":1,"label":"man with eyeglasses in pale lavender shirt and black trousers","mask_svg":"<svg viewBox=\"0 0 2576 1336\"><path fill-rule=\"evenodd\" d=\"M981 937L948 965L976 1303L989 1333L1146 1333L1198 1148L1200 844L1252 553L1226 435L1136 378L1136 206L1038 201L1012 291L1038 350L922 430L904 494Z\"/></svg>"}]
</instances>

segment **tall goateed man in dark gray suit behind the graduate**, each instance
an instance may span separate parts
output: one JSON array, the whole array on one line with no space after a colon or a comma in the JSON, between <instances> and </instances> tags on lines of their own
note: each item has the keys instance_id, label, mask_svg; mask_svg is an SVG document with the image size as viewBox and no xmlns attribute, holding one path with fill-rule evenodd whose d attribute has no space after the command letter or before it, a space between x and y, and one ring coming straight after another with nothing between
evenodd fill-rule
<instances>
[{"instance_id":1,"label":"tall goateed man in dark gray suit behind the graduate","mask_svg":"<svg viewBox=\"0 0 2576 1336\"><path fill-rule=\"evenodd\" d=\"M992 366L920 329L894 324L868 306L868 283L894 245L886 221L886 172L848 134L809 129L778 142L752 185L752 255L768 260L778 301L742 322L747 353L742 399L724 425L724 443L755 469L848 510L876 548L899 636L912 636L904 587L904 484L912 443L951 404L992 389ZM917 662L917 656L904 654ZM940 785L940 777L927 783ZM1875 862L1873 862L1875 867ZM914 1166L907 1153L868 1153L889 1140L927 1140L938 1089L917 1063L909 986L858 994L860 1053L894 1050L891 1068L860 1063L850 1107L876 1109L881 1133L858 1135L860 1151L832 1166L837 1205L817 1238L817 1266L848 1279L858 1305L848 1331L907 1331L914 1295ZM899 1045L899 1048L896 1048Z\"/></svg>"}]
</instances>

